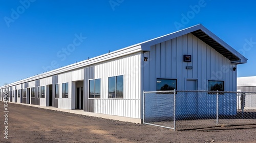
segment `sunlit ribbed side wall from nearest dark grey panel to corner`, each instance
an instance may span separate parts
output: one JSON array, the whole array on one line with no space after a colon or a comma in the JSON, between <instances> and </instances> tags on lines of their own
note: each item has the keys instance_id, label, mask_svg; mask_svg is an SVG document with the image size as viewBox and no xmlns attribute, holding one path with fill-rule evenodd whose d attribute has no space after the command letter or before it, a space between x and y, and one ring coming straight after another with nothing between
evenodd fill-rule
<instances>
[{"instance_id":1,"label":"sunlit ribbed side wall from nearest dark grey panel to corner","mask_svg":"<svg viewBox=\"0 0 256 143\"><path fill-rule=\"evenodd\" d=\"M123 99L108 98L109 77L123 75ZM141 52L84 69L84 111L141 118ZM89 99L88 80L101 79L101 98ZM88 104L88 105L87 105Z\"/></svg>"}]
</instances>

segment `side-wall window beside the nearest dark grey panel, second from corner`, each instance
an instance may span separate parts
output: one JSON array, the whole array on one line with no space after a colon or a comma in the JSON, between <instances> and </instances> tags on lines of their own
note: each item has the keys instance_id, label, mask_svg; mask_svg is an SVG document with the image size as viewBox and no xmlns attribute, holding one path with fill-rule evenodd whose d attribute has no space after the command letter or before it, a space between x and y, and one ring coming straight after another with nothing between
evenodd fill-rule
<instances>
[{"instance_id":1,"label":"side-wall window beside the nearest dark grey panel, second from corner","mask_svg":"<svg viewBox=\"0 0 256 143\"><path fill-rule=\"evenodd\" d=\"M89 98L100 98L100 79L89 80Z\"/></svg>"}]
</instances>

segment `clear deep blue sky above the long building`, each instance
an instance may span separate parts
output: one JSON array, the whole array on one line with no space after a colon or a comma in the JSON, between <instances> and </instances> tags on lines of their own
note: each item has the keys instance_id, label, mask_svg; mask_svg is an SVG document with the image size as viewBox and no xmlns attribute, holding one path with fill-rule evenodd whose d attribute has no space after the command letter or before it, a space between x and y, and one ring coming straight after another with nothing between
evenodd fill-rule
<instances>
[{"instance_id":1,"label":"clear deep blue sky above the long building","mask_svg":"<svg viewBox=\"0 0 256 143\"><path fill-rule=\"evenodd\" d=\"M0 0L0 85L41 74L52 62L54 67L66 66L198 23L248 59L238 66L238 77L256 76L255 5L219 0ZM70 46L79 35L82 39ZM68 46L70 51L62 51Z\"/></svg>"}]
</instances>

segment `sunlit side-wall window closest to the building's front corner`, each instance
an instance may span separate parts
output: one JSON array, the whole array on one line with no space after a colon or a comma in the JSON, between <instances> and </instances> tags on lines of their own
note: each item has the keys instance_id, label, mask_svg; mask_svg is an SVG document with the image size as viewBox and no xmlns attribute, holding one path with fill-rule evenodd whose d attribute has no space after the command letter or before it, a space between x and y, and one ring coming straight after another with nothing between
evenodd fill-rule
<instances>
[{"instance_id":1,"label":"sunlit side-wall window closest to the building's front corner","mask_svg":"<svg viewBox=\"0 0 256 143\"><path fill-rule=\"evenodd\" d=\"M109 78L109 98L123 98L123 76Z\"/></svg>"}]
</instances>

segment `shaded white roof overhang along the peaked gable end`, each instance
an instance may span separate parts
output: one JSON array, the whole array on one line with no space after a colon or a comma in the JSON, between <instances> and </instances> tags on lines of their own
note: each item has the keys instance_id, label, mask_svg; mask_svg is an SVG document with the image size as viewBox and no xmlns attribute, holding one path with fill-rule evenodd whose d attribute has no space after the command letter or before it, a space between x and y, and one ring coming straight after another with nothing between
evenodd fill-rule
<instances>
[{"instance_id":1,"label":"shaded white roof overhang along the peaked gable end","mask_svg":"<svg viewBox=\"0 0 256 143\"><path fill-rule=\"evenodd\" d=\"M141 43L141 47L143 51L150 51L150 46L154 44L161 43L169 39L177 38L188 33L195 35L200 40L211 46L221 55L229 59L231 61L231 64L242 64L247 62L247 59L243 55L234 50L226 42L221 40L218 36L210 32L201 24L174 33L170 33L152 40L145 41Z\"/></svg>"}]
</instances>

